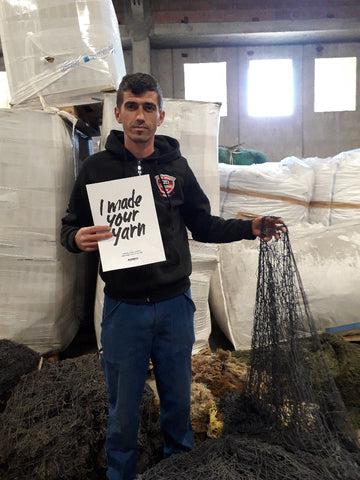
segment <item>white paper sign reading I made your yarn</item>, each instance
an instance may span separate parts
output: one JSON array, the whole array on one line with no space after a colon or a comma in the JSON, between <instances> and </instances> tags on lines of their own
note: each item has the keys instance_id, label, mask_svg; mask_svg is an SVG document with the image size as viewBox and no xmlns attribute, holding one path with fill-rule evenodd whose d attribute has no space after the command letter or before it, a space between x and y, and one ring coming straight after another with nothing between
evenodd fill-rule
<instances>
[{"instance_id":1,"label":"white paper sign reading I made your yarn","mask_svg":"<svg viewBox=\"0 0 360 480\"><path fill-rule=\"evenodd\" d=\"M149 175L86 185L95 225L113 237L99 242L104 272L166 259Z\"/></svg>"}]
</instances>

